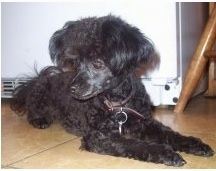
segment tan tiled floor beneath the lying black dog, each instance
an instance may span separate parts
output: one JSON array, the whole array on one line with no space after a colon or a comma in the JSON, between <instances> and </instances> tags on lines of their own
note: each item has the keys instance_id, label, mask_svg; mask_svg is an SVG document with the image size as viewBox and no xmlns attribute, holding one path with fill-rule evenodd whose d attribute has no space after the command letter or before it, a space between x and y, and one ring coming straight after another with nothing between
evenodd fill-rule
<instances>
[{"instance_id":1,"label":"tan tiled floor beneath the lying black dog","mask_svg":"<svg viewBox=\"0 0 216 171\"><path fill-rule=\"evenodd\" d=\"M14 114L2 100L2 168L173 168L163 164L99 155L79 150L80 138L54 124L38 130L25 117ZM156 119L184 135L201 138L216 151L216 99L199 96L184 114L157 109ZM181 153L187 164L181 168L216 168L216 154L205 158Z\"/></svg>"}]
</instances>

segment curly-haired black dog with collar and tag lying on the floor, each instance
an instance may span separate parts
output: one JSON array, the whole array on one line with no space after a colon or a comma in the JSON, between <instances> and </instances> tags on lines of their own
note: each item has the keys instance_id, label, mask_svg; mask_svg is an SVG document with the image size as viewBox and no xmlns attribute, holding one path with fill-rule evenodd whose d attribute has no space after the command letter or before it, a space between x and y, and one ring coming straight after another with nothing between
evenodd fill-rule
<instances>
[{"instance_id":1,"label":"curly-haired black dog with collar and tag lying on the floor","mask_svg":"<svg viewBox=\"0 0 216 171\"><path fill-rule=\"evenodd\" d=\"M186 163L176 151L213 155L201 140L153 119L134 71L152 61L154 46L137 28L111 15L86 18L66 23L49 47L57 66L18 87L11 105L18 113L27 111L34 127L57 120L83 137L82 149L166 165Z\"/></svg>"}]
</instances>

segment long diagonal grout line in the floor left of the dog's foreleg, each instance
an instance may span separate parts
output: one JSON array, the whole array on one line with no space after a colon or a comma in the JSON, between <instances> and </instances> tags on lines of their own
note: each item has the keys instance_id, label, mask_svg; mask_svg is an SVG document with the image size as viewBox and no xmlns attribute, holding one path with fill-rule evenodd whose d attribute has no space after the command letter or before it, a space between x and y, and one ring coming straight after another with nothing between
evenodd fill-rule
<instances>
[{"instance_id":1,"label":"long diagonal grout line in the floor left of the dog's foreleg","mask_svg":"<svg viewBox=\"0 0 216 171\"><path fill-rule=\"evenodd\" d=\"M25 158L22 158L22 159L20 159L20 160L17 160L17 161L15 161L15 162L13 162L13 163L4 165L4 167L13 167L13 166L11 166L11 165L16 164L16 163L19 163L19 162L21 162L21 161L23 161L23 160L26 160L26 159L28 159L28 158L31 158L31 157L33 157L33 156L36 156L36 155L41 154L41 153L43 153L43 152L46 152L46 151L48 151L48 150L54 149L54 148L56 148L56 147L58 147L58 146L60 146L60 145L66 144L66 143L68 143L68 142L70 142L70 141L77 140L77 139L79 139L79 138L80 138L80 137L75 137L75 138L69 139L69 140L64 141L64 142L62 142L62 143L60 143L60 144L57 144L57 145L55 145L55 146L52 146L52 147L50 147L50 148L47 148L47 149L45 149L45 150L39 151L39 152L37 152L37 153L35 153L35 154L32 154L32 155L30 155L30 156L27 156L27 157L25 157ZM16 168L16 167L14 167L14 168Z\"/></svg>"}]
</instances>

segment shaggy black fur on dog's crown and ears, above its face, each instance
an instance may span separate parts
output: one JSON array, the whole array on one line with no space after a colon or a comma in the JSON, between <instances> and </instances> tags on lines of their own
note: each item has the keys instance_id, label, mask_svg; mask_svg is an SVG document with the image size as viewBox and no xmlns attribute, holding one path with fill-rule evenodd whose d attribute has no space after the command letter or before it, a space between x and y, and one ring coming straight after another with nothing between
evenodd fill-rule
<instances>
[{"instance_id":1,"label":"shaggy black fur on dog's crown and ears, above its face","mask_svg":"<svg viewBox=\"0 0 216 171\"><path fill-rule=\"evenodd\" d=\"M67 22L51 37L49 50L58 66L99 58L115 74L147 62L154 51L136 27L113 16Z\"/></svg>"}]
</instances>

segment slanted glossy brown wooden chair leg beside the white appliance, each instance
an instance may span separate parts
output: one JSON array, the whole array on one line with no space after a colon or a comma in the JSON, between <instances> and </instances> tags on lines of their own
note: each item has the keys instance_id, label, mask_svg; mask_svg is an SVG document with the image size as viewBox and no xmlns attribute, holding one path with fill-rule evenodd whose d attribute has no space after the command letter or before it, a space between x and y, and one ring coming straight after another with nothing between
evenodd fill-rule
<instances>
[{"instance_id":1,"label":"slanted glossy brown wooden chair leg beside the white appliance","mask_svg":"<svg viewBox=\"0 0 216 171\"><path fill-rule=\"evenodd\" d=\"M215 38L216 7L214 7L211 15L209 16L195 54L187 69L179 100L174 108L174 112L183 112L206 67L208 60L204 57L204 52L212 49Z\"/></svg>"}]
</instances>

